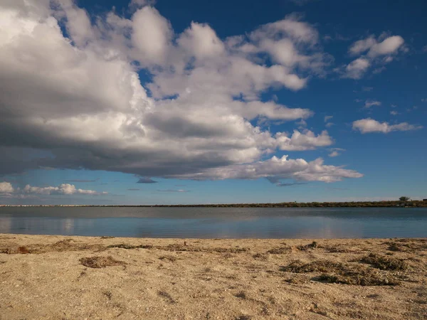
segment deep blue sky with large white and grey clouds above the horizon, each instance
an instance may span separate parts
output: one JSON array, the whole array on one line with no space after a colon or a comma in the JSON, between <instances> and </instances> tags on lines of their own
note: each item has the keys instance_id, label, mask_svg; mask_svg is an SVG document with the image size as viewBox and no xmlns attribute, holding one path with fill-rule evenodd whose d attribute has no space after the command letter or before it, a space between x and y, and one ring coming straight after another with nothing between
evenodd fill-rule
<instances>
[{"instance_id":1,"label":"deep blue sky with large white and grey clouds above the horizon","mask_svg":"<svg viewBox=\"0 0 427 320\"><path fill-rule=\"evenodd\" d=\"M0 0L0 204L427 198L426 10Z\"/></svg>"}]
</instances>

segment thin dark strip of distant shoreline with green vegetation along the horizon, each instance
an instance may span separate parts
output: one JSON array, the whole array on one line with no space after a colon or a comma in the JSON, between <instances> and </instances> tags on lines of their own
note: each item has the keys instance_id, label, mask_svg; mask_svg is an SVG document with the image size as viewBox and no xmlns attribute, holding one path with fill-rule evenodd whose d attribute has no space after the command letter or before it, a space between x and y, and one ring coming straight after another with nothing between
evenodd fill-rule
<instances>
[{"instance_id":1,"label":"thin dark strip of distant shoreline with green vegetation along the horizon","mask_svg":"<svg viewBox=\"0 0 427 320\"><path fill-rule=\"evenodd\" d=\"M427 208L427 201L354 201L354 202L284 202L222 203L189 205L0 205L0 207L137 207L137 208Z\"/></svg>"}]
</instances>

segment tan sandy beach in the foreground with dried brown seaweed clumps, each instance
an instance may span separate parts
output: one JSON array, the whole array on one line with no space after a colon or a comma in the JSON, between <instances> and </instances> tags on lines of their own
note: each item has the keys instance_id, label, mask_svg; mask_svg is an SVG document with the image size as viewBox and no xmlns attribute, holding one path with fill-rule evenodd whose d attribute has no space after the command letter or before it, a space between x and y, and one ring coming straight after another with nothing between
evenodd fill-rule
<instances>
[{"instance_id":1,"label":"tan sandy beach in the foreground with dried brown seaweed clumps","mask_svg":"<svg viewBox=\"0 0 427 320\"><path fill-rule=\"evenodd\" d=\"M427 239L312 241L0 234L0 319L427 319Z\"/></svg>"}]
</instances>

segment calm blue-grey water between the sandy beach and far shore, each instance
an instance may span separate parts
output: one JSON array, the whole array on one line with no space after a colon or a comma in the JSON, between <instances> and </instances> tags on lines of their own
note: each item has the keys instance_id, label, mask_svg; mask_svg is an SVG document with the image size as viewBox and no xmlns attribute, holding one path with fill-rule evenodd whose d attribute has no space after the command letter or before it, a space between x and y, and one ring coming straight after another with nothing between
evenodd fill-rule
<instances>
[{"instance_id":1,"label":"calm blue-grey water between the sandy beach and far shore","mask_svg":"<svg viewBox=\"0 0 427 320\"><path fill-rule=\"evenodd\" d=\"M425 238L427 208L3 207L0 233L141 238Z\"/></svg>"}]
</instances>

